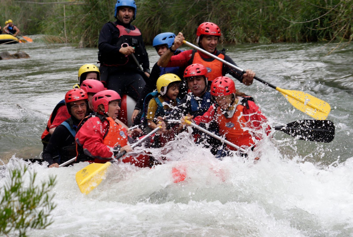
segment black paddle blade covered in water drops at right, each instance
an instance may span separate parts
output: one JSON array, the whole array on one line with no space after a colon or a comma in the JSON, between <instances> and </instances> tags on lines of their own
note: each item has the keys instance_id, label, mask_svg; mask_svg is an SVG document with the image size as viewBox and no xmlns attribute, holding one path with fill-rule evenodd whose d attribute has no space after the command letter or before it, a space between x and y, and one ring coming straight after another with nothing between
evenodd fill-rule
<instances>
[{"instance_id":1,"label":"black paddle blade covered in water drops at right","mask_svg":"<svg viewBox=\"0 0 353 237\"><path fill-rule=\"evenodd\" d=\"M306 141L331 142L335 137L335 125L330 120L298 120L276 126L275 130Z\"/></svg>"}]
</instances>

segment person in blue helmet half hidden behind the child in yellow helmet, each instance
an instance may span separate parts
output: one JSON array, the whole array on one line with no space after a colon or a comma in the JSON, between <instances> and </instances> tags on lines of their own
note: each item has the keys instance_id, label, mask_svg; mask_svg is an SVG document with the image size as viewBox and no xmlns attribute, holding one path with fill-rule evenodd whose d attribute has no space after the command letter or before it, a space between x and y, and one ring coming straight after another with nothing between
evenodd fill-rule
<instances>
[{"instance_id":1,"label":"person in blue helmet half hidden behind the child in yellow helmet","mask_svg":"<svg viewBox=\"0 0 353 237\"><path fill-rule=\"evenodd\" d=\"M159 56L162 56L169 49L169 47L171 47L173 45L174 38L175 38L175 34L172 32L164 32L164 33L161 33L159 35L156 35L156 37L154 37L153 42L152 42L152 46L156 49L157 54ZM178 55L179 53L181 53L180 50L175 50L173 55ZM139 113L140 109L142 109L142 107L143 107L144 98L155 89L157 79L161 75L167 74L167 73L173 73L173 74L178 75L180 78L183 78L183 70L180 69L179 67L160 67L157 65L157 63L155 63L155 65L152 68L151 75L150 75L149 79L146 80L146 85L143 88L142 93L138 99L136 106L135 106L135 109L132 113L131 120L134 122L134 124L139 124L139 119L137 119L137 121L134 121L134 120L136 117L139 118L138 113ZM184 97L186 95L187 89L186 89L186 84L181 85L180 87L181 87L181 90L179 90L178 98L181 99L182 97Z\"/></svg>"}]
</instances>

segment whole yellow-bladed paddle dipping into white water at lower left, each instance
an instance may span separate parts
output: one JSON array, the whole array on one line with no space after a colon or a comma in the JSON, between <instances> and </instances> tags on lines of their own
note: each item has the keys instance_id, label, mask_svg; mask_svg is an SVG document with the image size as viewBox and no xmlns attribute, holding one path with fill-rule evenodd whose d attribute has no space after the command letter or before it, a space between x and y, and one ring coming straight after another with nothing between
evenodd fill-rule
<instances>
[{"instance_id":1,"label":"whole yellow-bladed paddle dipping into white water at lower left","mask_svg":"<svg viewBox=\"0 0 353 237\"><path fill-rule=\"evenodd\" d=\"M155 134L162 126L158 126L150 133L145 135L142 139L138 140L131 145L132 148L140 145L143 141L149 138L151 135ZM124 156L126 151L119 153L112 161L118 160L120 157ZM100 184L107 172L107 168L112 164L111 161L104 164L101 163L91 163L85 168L79 170L76 173L76 182L81 191L81 193L89 194L95 187Z\"/></svg>"}]
</instances>

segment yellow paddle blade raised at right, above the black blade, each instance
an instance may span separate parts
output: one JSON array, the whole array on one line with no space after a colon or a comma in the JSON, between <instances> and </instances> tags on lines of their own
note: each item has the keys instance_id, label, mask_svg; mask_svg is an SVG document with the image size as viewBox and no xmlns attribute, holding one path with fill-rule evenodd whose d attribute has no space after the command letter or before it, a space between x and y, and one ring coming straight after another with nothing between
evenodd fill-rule
<instances>
[{"instance_id":1,"label":"yellow paddle blade raised at right, above the black blade","mask_svg":"<svg viewBox=\"0 0 353 237\"><path fill-rule=\"evenodd\" d=\"M325 120L330 113L331 107L329 103L308 93L303 91L284 90L279 87L276 87L276 90L280 91L295 108L315 119Z\"/></svg>"}]
</instances>

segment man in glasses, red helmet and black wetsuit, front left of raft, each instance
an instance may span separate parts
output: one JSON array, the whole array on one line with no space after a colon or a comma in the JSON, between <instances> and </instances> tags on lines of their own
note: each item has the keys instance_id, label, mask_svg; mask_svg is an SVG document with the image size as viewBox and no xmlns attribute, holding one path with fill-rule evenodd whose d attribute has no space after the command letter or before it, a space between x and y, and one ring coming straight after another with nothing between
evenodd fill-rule
<instances>
[{"instance_id":1,"label":"man in glasses, red helmet and black wetsuit, front left of raft","mask_svg":"<svg viewBox=\"0 0 353 237\"><path fill-rule=\"evenodd\" d=\"M87 115L87 93L82 89L72 89L65 95L65 104L71 116L55 129L43 151L43 160L49 163L49 168L59 167L59 164L76 156L76 129Z\"/></svg>"}]
</instances>

